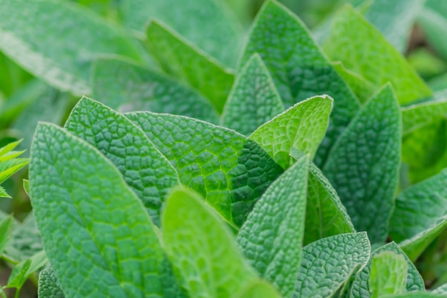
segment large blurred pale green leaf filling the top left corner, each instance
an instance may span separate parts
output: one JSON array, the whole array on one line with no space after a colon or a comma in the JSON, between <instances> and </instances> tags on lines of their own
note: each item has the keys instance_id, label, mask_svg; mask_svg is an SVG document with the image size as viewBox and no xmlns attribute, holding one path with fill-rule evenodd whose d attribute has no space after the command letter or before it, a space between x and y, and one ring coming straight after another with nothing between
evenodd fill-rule
<instances>
[{"instance_id":1,"label":"large blurred pale green leaf filling the top left corner","mask_svg":"<svg viewBox=\"0 0 447 298\"><path fill-rule=\"evenodd\" d=\"M90 93L90 66L100 53L140 59L123 30L68 1L1 0L0 6L1 51L63 91Z\"/></svg>"}]
</instances>

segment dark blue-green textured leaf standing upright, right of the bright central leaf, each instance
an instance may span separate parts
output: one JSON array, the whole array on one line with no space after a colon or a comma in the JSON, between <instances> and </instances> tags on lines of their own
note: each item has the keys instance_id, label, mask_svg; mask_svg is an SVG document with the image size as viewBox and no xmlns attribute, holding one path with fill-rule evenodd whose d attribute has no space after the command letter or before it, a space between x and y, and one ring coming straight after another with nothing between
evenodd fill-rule
<instances>
[{"instance_id":1,"label":"dark blue-green textured leaf standing upright, right of the bright central leaf","mask_svg":"<svg viewBox=\"0 0 447 298\"><path fill-rule=\"evenodd\" d=\"M354 227L373 243L388 234L400 162L401 112L387 85L351 121L323 168Z\"/></svg>"}]
</instances>

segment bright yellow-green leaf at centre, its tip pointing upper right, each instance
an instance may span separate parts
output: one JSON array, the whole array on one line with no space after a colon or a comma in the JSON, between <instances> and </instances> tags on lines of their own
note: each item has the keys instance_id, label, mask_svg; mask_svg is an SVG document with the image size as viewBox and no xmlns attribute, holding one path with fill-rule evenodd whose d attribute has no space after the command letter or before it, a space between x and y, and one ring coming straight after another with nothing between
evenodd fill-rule
<instances>
[{"instance_id":1,"label":"bright yellow-green leaf at centre, its tip pointing upper right","mask_svg":"<svg viewBox=\"0 0 447 298\"><path fill-rule=\"evenodd\" d=\"M260 144L283 169L293 164L292 149L312 159L326 133L332 103L329 96L301 101L260 126L250 139Z\"/></svg>"}]
</instances>

